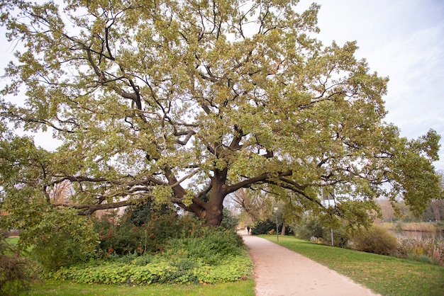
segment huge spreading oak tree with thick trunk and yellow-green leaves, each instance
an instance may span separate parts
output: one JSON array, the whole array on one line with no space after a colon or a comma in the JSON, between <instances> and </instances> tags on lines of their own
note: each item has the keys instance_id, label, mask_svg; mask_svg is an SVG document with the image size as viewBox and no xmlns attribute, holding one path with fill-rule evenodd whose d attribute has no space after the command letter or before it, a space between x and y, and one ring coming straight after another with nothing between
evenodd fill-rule
<instances>
[{"instance_id":1,"label":"huge spreading oak tree with thick trunk and yellow-green leaves","mask_svg":"<svg viewBox=\"0 0 444 296\"><path fill-rule=\"evenodd\" d=\"M224 198L252 188L287 212L364 222L381 195L417 212L440 195L439 135L407 140L384 121L387 78L354 57L355 42L316 40L316 4L0 3L16 48L0 102L10 216L150 201L218 225ZM62 144L45 151L13 126L52 130ZM66 182L60 202L54 188Z\"/></svg>"}]
</instances>

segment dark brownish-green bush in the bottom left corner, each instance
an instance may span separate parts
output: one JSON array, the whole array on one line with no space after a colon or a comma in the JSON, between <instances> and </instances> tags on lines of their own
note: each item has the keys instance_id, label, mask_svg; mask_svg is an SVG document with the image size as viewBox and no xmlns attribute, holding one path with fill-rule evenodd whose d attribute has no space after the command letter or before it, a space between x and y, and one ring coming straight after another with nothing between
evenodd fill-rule
<instances>
[{"instance_id":1,"label":"dark brownish-green bush in the bottom left corner","mask_svg":"<svg viewBox=\"0 0 444 296\"><path fill-rule=\"evenodd\" d=\"M0 295L19 295L35 280L32 263L0 237Z\"/></svg>"}]
</instances>

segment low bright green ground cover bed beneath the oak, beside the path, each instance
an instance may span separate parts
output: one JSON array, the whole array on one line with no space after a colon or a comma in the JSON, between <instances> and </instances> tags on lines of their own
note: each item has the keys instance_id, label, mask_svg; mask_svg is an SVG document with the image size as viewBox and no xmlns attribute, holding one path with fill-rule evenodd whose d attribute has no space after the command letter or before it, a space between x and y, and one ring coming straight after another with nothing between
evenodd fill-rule
<instances>
[{"instance_id":1,"label":"low bright green ground cover bed beneath the oak, beside the path","mask_svg":"<svg viewBox=\"0 0 444 296\"><path fill-rule=\"evenodd\" d=\"M171 239L165 252L128 254L87 266L48 273L76 283L148 285L151 283L224 283L247 278L252 263L242 239L231 230L206 228L200 237Z\"/></svg>"}]
</instances>

